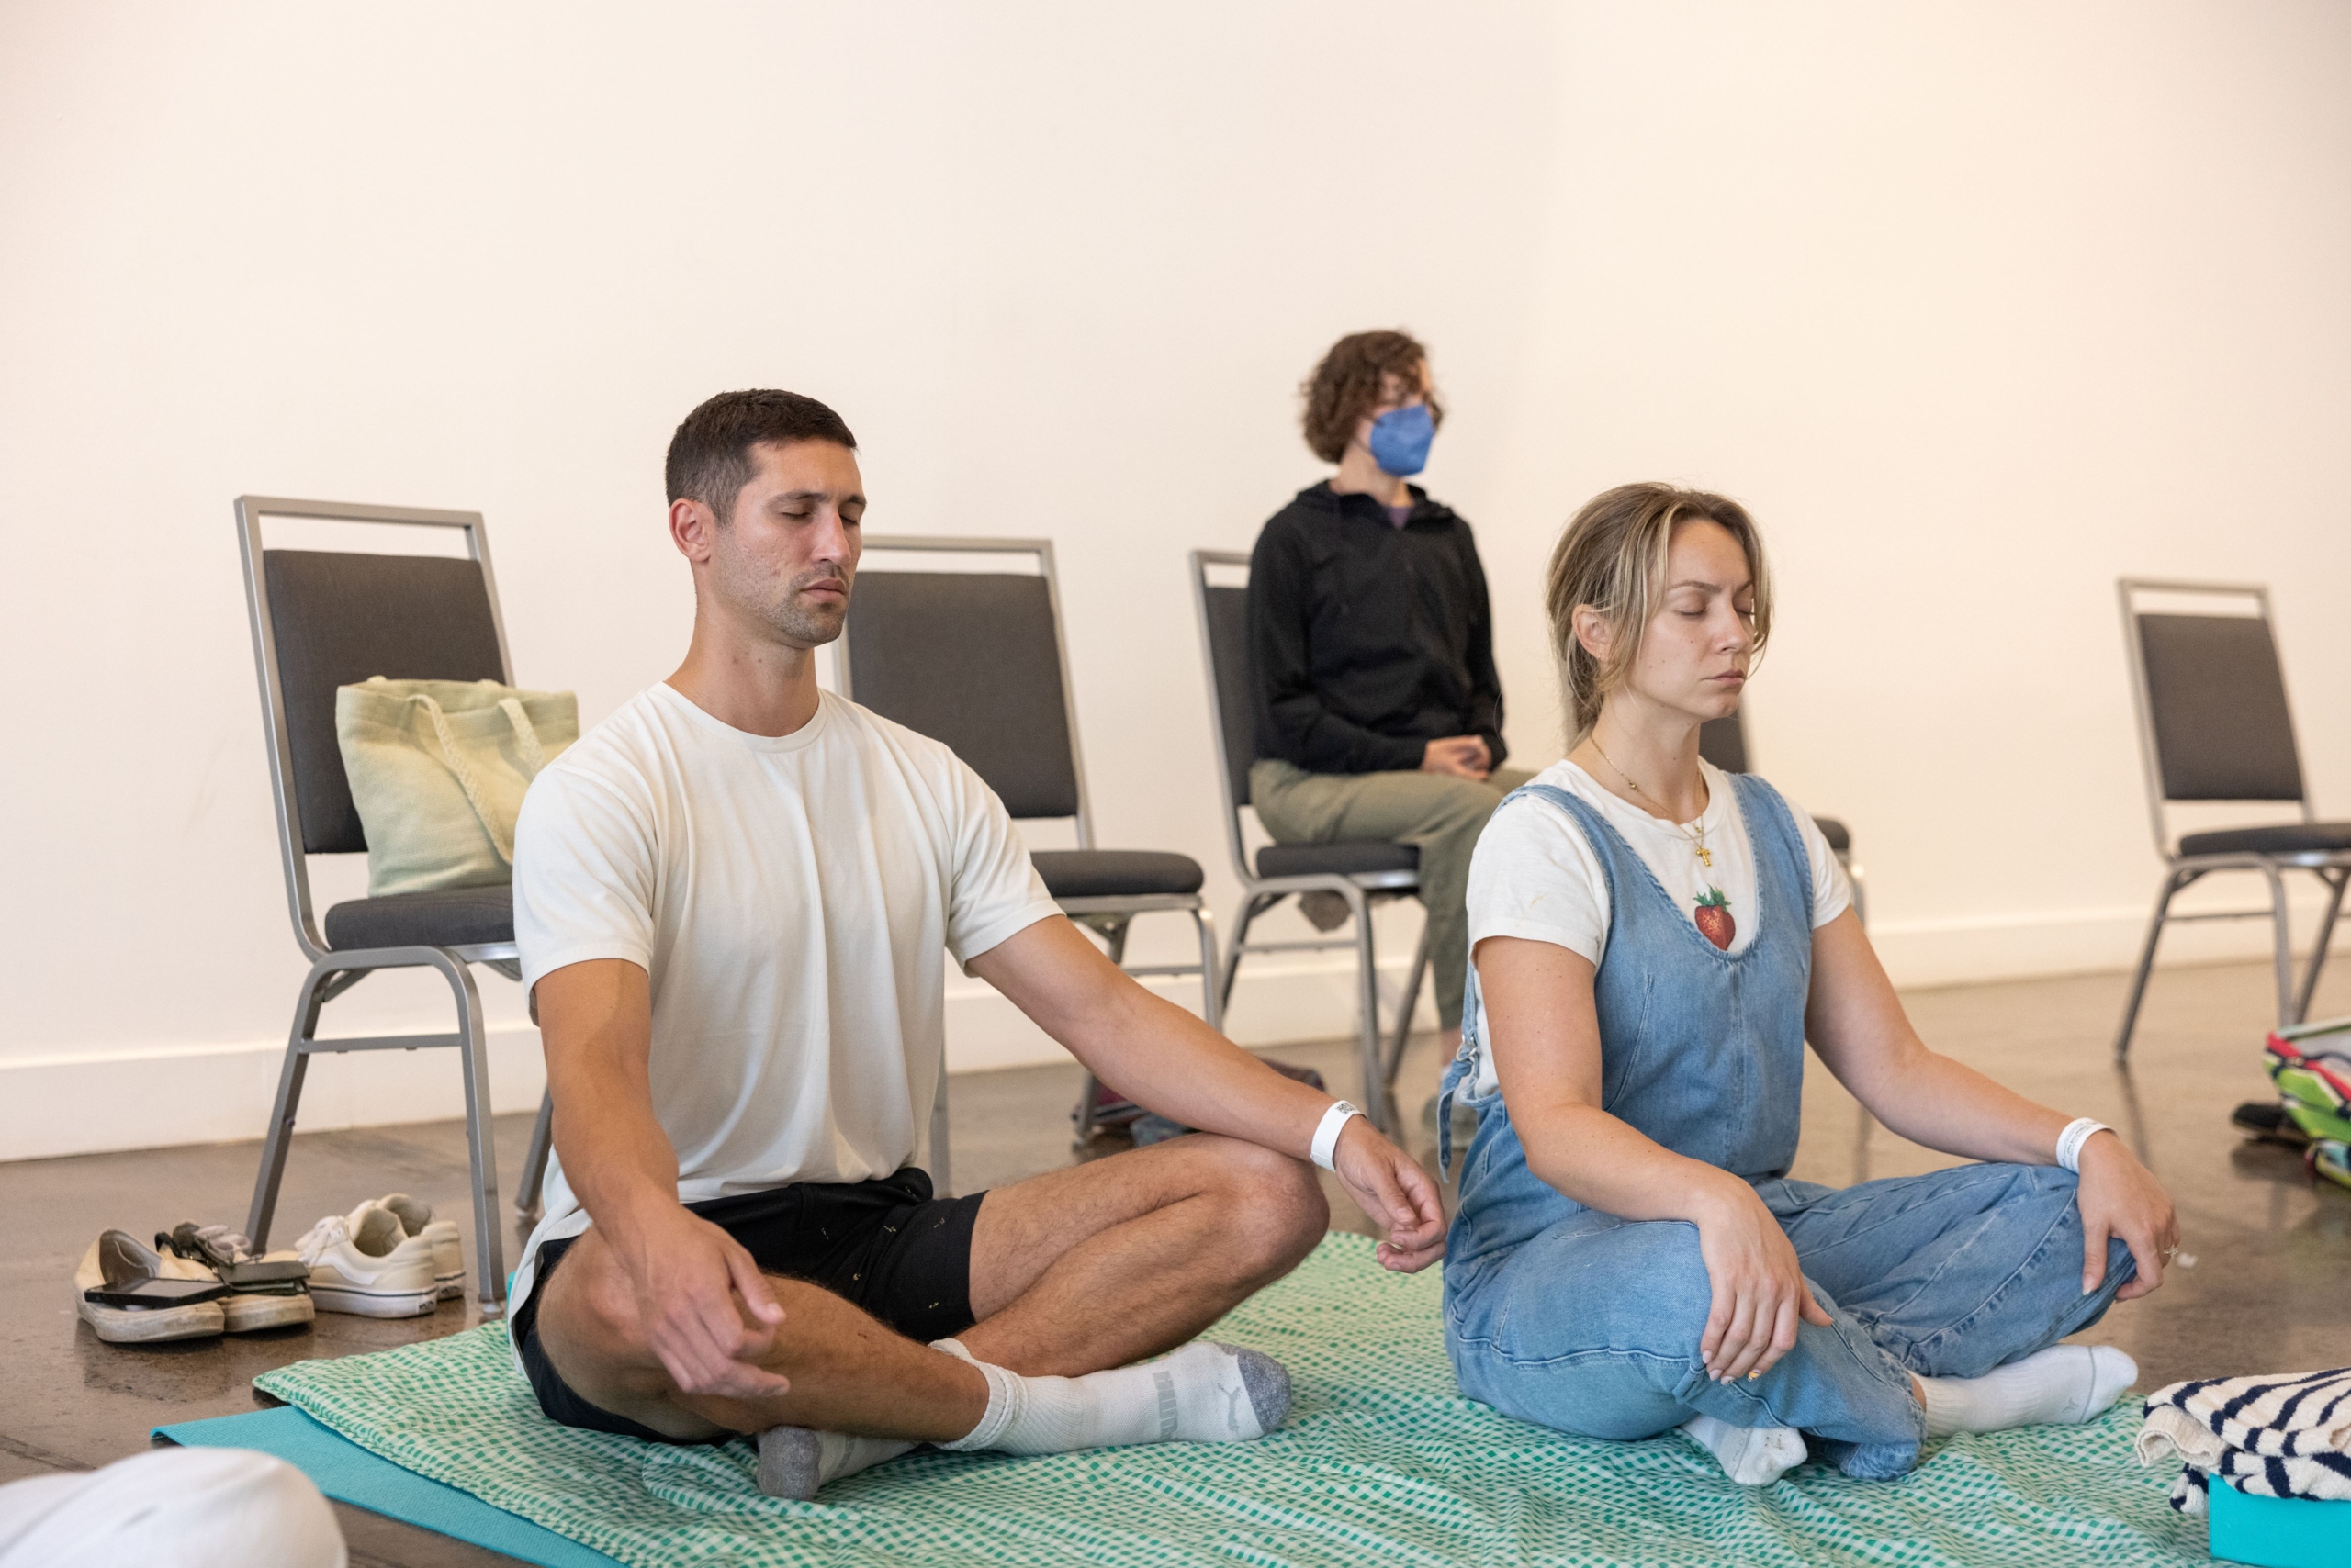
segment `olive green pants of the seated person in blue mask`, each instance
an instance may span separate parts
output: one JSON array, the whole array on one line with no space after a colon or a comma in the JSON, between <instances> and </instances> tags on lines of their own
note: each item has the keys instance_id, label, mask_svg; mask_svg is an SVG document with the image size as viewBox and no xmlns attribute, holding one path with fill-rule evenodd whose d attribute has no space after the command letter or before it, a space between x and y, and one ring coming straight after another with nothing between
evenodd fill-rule
<instances>
[{"instance_id":1,"label":"olive green pants of the seated person in blue mask","mask_svg":"<svg viewBox=\"0 0 2351 1568\"><path fill-rule=\"evenodd\" d=\"M1528 778L1516 769L1495 769L1486 783L1451 773L1307 773L1260 759L1248 769L1248 799L1277 844L1389 839L1420 851L1436 1018L1458 1030L1469 973L1469 853L1493 809Z\"/></svg>"}]
</instances>

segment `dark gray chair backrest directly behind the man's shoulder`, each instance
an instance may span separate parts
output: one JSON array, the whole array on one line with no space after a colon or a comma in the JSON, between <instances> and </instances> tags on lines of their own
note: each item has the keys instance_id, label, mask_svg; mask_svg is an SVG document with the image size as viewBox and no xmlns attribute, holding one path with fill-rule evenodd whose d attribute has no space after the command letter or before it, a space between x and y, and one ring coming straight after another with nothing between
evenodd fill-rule
<instances>
[{"instance_id":1,"label":"dark gray chair backrest directly behind the man's shoulder","mask_svg":"<svg viewBox=\"0 0 2351 1568\"><path fill-rule=\"evenodd\" d=\"M1016 818L1079 816L1049 578L860 571L844 656L849 698L943 741Z\"/></svg>"}]
</instances>

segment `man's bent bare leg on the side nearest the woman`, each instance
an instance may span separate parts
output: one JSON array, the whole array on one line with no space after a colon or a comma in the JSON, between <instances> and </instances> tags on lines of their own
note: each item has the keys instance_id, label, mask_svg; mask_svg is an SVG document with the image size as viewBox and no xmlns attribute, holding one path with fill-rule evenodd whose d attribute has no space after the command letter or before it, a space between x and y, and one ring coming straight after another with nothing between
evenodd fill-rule
<instances>
[{"instance_id":1,"label":"man's bent bare leg on the side nearest the woman","mask_svg":"<svg viewBox=\"0 0 2351 1568\"><path fill-rule=\"evenodd\" d=\"M1288 1274L1331 1225L1314 1168L1192 1133L999 1187L971 1232L973 1328L1016 1373L1077 1378L1173 1349Z\"/></svg>"}]
</instances>

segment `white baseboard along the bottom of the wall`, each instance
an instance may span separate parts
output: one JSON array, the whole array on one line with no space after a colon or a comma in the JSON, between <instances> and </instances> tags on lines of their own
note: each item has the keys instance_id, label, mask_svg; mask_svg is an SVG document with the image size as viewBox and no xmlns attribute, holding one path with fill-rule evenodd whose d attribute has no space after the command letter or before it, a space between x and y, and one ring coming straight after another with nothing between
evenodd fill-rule
<instances>
[{"instance_id":1,"label":"white baseboard along the bottom of the wall","mask_svg":"<svg viewBox=\"0 0 2351 1568\"><path fill-rule=\"evenodd\" d=\"M2316 905L2295 907L2304 943ZM1871 929L1897 985L2123 969L2146 931L2144 907L2071 910L2031 917L1883 922ZM2172 926L2163 964L2210 964L2269 954L2269 922ZM2337 943L2344 947L2344 943ZM1404 992L1406 943L1387 943L1380 964L1382 1011ZM952 971L950 971L952 976ZM1199 985L1154 978L1164 997L1197 1009ZM397 1027L397 1025L390 1025ZM447 1027L421 1018L411 1027ZM1436 1027L1427 994L1415 1027ZM1244 1046L1331 1039L1354 1032L1354 959L1253 959L1234 985L1227 1032ZM277 1093L282 1039L172 1044L103 1053L49 1053L0 1060L0 1159L47 1159L176 1143L259 1138ZM987 1072L1070 1060L1060 1046L978 980L947 985L947 1070ZM545 1074L538 1032L496 1025L489 1032L491 1107L538 1105ZM303 1131L435 1121L465 1114L454 1051L362 1051L315 1056L303 1088Z\"/></svg>"}]
</instances>

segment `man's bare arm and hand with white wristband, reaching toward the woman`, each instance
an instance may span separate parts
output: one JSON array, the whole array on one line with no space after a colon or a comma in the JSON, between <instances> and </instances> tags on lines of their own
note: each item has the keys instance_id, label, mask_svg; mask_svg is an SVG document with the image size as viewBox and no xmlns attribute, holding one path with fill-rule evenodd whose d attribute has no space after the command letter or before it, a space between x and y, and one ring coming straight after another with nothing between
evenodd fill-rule
<instances>
[{"instance_id":1,"label":"man's bare arm and hand with white wristband, reaching toward the woman","mask_svg":"<svg viewBox=\"0 0 2351 1568\"><path fill-rule=\"evenodd\" d=\"M969 969L1098 1079L1171 1121L1305 1159L1331 1107L1331 1095L1281 1077L1185 1009L1136 985L1067 919L1041 919L971 959ZM1436 1187L1371 1121L1347 1124L1333 1164L1347 1194L1387 1227L1380 1262L1420 1269L1444 1255Z\"/></svg>"}]
</instances>

